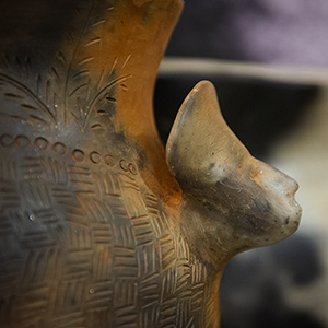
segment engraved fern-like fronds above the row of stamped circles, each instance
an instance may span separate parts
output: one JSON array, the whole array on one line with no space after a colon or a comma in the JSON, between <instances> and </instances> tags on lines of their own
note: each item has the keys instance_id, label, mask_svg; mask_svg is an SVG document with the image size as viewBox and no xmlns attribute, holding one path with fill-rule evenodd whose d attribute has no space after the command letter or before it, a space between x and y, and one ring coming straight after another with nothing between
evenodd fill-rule
<instances>
[{"instance_id":1,"label":"engraved fern-like fronds above the row of stamped circles","mask_svg":"<svg viewBox=\"0 0 328 328\"><path fill-rule=\"evenodd\" d=\"M67 32L67 49L56 54L46 78L42 74L33 75L28 57L21 60L3 56L0 92L4 102L15 106L11 105L10 110L0 109L0 117L42 125L49 129L54 126L67 128L73 121L83 132L89 127L92 115L96 118L110 115L108 103L116 105L115 87L131 75L117 75L117 59L108 69L92 75L90 66L95 56L91 54L94 47L102 44L102 37L96 31L106 23L106 20L96 14L99 11L97 4L97 1L93 1L82 10L77 9L79 23ZM107 7L102 12L113 9ZM122 59L122 68L129 57ZM102 124L98 121L90 128L102 128Z\"/></svg>"}]
</instances>

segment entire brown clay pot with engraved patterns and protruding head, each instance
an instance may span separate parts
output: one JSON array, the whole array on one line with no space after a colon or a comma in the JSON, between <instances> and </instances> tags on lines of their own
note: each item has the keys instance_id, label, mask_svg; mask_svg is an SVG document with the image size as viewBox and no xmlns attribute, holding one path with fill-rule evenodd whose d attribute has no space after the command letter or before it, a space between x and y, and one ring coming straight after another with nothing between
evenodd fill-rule
<instances>
[{"instance_id":1,"label":"entire brown clay pot with engraved patterns and protruding head","mask_svg":"<svg viewBox=\"0 0 328 328\"><path fill-rule=\"evenodd\" d=\"M152 93L181 8L1 2L1 328L219 327L227 260L297 229L297 184L248 153L210 82L165 155Z\"/></svg>"}]
</instances>

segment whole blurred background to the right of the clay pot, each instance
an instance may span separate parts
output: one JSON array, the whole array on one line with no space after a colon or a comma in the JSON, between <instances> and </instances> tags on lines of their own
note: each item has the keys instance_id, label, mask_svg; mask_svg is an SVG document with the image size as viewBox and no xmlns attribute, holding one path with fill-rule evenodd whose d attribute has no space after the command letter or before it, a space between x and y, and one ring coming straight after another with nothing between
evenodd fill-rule
<instances>
[{"instance_id":1,"label":"whole blurred background to the right of the clay pot","mask_svg":"<svg viewBox=\"0 0 328 328\"><path fill-rule=\"evenodd\" d=\"M303 208L292 237L230 261L222 328L328 327L328 1L186 0L155 91L163 142L200 80L250 153L300 183Z\"/></svg>"}]
</instances>

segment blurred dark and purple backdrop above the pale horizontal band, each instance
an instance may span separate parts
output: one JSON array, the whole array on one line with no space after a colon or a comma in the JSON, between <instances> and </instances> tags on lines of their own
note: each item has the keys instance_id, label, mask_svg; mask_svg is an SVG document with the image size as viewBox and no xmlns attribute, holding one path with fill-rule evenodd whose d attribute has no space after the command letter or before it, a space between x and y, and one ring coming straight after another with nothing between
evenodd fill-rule
<instances>
[{"instance_id":1,"label":"blurred dark and purple backdrop above the pale horizontal band","mask_svg":"<svg viewBox=\"0 0 328 328\"><path fill-rule=\"evenodd\" d=\"M328 66L328 1L186 0L167 55Z\"/></svg>"}]
</instances>

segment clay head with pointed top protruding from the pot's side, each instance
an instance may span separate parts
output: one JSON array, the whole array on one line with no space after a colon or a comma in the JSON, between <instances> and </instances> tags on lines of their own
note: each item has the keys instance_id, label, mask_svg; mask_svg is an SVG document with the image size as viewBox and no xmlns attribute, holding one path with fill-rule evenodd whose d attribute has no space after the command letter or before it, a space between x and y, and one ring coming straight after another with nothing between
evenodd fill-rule
<instances>
[{"instance_id":1,"label":"clay head with pointed top protruding from the pot's side","mask_svg":"<svg viewBox=\"0 0 328 328\"><path fill-rule=\"evenodd\" d=\"M227 257L296 231L298 185L250 155L225 124L210 82L197 84L181 105L166 155L183 189L184 208L190 209L186 225L197 218L192 229L203 231L211 247L222 246Z\"/></svg>"}]
</instances>

